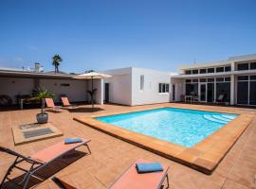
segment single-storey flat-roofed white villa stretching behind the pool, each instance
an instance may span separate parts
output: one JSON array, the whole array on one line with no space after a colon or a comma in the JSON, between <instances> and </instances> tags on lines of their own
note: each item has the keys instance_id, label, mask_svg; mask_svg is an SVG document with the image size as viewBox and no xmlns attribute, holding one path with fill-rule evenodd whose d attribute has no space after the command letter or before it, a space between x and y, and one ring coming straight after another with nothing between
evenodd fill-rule
<instances>
[{"instance_id":1,"label":"single-storey flat-roofed white villa stretching behind the pool","mask_svg":"<svg viewBox=\"0 0 256 189\"><path fill-rule=\"evenodd\" d=\"M136 106L196 101L256 105L256 55L196 63L180 70L180 74L136 67L102 71L112 77L95 79L96 103ZM74 76L42 72L38 64L33 71L0 68L0 105L1 96L9 96L12 105L19 104L22 96L38 86L52 94L67 95L72 102L88 101L90 80Z\"/></svg>"}]
</instances>

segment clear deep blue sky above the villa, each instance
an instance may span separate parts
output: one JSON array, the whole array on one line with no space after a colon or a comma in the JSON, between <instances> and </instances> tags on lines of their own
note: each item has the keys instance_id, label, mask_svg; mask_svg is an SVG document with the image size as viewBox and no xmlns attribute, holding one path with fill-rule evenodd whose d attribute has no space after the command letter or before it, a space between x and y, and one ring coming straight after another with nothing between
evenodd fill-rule
<instances>
[{"instance_id":1,"label":"clear deep blue sky above the villa","mask_svg":"<svg viewBox=\"0 0 256 189\"><path fill-rule=\"evenodd\" d=\"M83 72L256 53L255 0L1 1L0 67Z\"/></svg>"}]
</instances>

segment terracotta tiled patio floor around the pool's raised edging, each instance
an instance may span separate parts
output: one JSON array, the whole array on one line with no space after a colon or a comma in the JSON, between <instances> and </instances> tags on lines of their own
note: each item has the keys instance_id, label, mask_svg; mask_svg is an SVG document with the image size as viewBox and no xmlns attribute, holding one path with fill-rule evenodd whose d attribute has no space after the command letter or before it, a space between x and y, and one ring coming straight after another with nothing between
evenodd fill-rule
<instances>
[{"instance_id":1,"label":"terracotta tiled patio floor around the pool's raised edging","mask_svg":"<svg viewBox=\"0 0 256 189\"><path fill-rule=\"evenodd\" d=\"M256 112L253 109L227 108L215 106L168 104L175 107L188 107L208 109L210 111L224 112ZM141 108L155 108L161 105L148 105L139 107L126 107L116 105L97 106L101 112L119 112L127 110L140 110ZM0 145L8 146L16 151L29 155L46 146L55 144L65 137L78 136L90 138L89 144L92 155L86 155L85 148L79 148L79 152L70 153L58 162L51 164L47 172L42 175L56 176L66 180L78 188L107 188L119 175L138 158L157 161L170 165L171 188L230 188L248 189L256 187L256 117L247 127L246 131L239 138L223 161L217 166L213 173L208 176L180 163L160 157L152 152L130 145L109 136L96 129L91 129L74 121L74 116L91 114L89 107L78 111L63 111L61 113L49 112L49 121L58 129L64 132L63 137L56 137L38 141L26 145L14 146L11 133L12 125L32 123L35 121L35 114L39 110L22 110L0 112ZM95 112L99 113L99 112ZM0 152L0 179L2 180L9 164L13 158ZM59 170L59 171L58 171ZM57 172L58 171L58 172ZM57 173L56 173L57 172ZM13 172L12 178L16 180L21 173ZM47 179L37 183L31 180L30 185L36 188L57 188ZM9 188L15 188L9 183Z\"/></svg>"}]
</instances>

